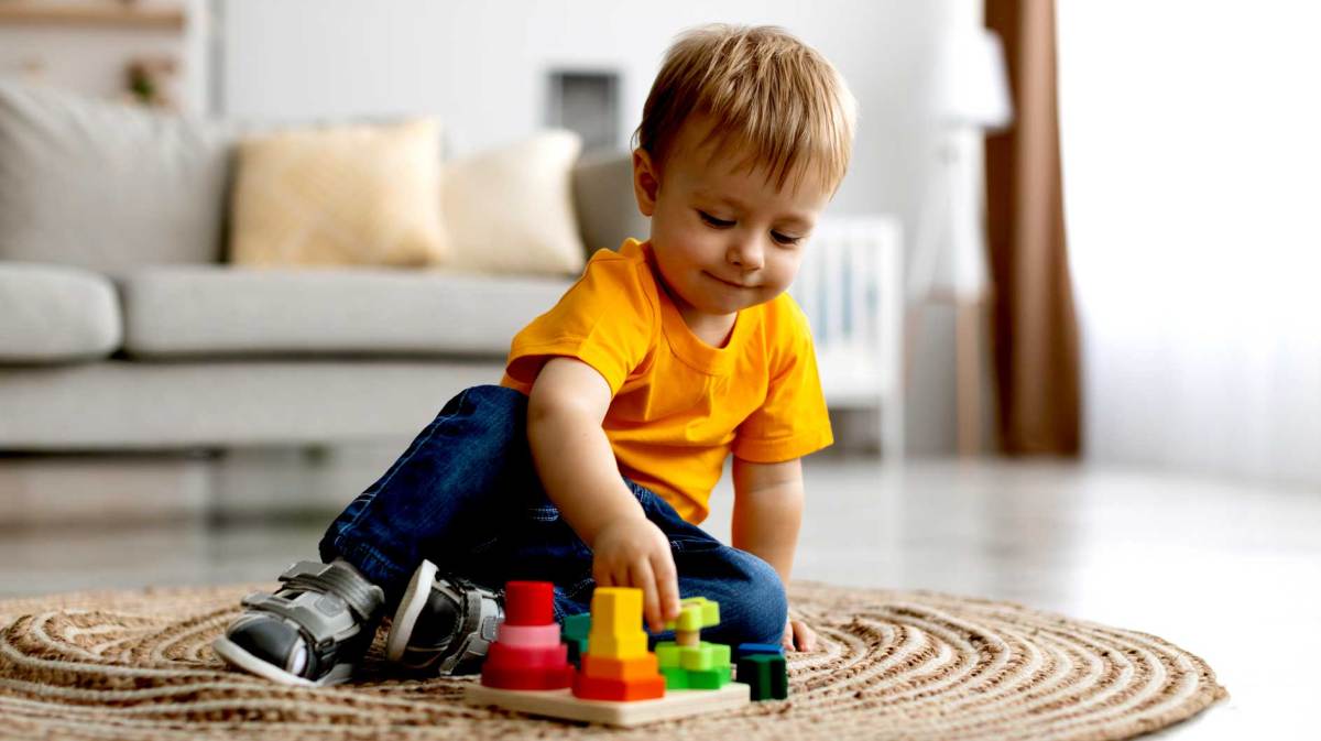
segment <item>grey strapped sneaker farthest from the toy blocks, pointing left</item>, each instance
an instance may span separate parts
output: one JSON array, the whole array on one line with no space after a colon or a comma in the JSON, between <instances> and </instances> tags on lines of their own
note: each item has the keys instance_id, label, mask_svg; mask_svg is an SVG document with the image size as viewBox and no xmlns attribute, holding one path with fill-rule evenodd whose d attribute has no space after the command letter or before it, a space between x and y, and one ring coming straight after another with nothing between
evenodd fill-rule
<instances>
[{"instance_id":1,"label":"grey strapped sneaker farthest from the toy blocks, pointing left","mask_svg":"<svg viewBox=\"0 0 1321 741\"><path fill-rule=\"evenodd\" d=\"M337 564L299 561L273 594L255 592L211 643L232 667L283 684L324 687L353 676L384 613L384 592Z\"/></svg>"}]
</instances>

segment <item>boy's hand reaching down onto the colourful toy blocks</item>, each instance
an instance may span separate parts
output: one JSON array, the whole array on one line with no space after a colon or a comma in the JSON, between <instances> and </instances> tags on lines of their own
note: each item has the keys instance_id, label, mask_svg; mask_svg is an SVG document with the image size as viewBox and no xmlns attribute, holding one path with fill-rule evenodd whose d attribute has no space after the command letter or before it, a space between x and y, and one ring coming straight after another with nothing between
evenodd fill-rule
<instances>
[{"instance_id":1,"label":"boy's hand reaching down onto the colourful toy blocks","mask_svg":"<svg viewBox=\"0 0 1321 741\"><path fill-rule=\"evenodd\" d=\"M596 585L642 589L642 614L653 633L679 617L679 579L670 539L651 520L617 519L602 527L589 546Z\"/></svg>"}]
</instances>

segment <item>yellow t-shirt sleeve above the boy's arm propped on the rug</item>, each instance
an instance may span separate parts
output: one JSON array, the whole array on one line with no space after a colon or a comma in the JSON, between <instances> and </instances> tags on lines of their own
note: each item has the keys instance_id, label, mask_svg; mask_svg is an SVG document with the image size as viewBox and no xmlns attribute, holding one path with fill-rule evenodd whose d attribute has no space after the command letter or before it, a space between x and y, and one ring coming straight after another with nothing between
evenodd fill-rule
<instances>
[{"instance_id":1,"label":"yellow t-shirt sleeve above the boy's arm propped on the rug","mask_svg":"<svg viewBox=\"0 0 1321 741\"><path fill-rule=\"evenodd\" d=\"M733 454L754 464L791 461L835 441L807 317L787 297L783 308L768 332L766 400L734 435Z\"/></svg>"}]
</instances>

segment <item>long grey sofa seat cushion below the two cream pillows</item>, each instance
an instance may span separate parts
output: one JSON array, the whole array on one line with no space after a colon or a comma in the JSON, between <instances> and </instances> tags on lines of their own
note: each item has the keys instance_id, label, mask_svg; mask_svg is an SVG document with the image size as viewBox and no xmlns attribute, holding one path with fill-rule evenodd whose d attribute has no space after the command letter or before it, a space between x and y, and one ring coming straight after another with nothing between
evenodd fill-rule
<instances>
[{"instance_id":1,"label":"long grey sofa seat cushion below the two cream pillows","mask_svg":"<svg viewBox=\"0 0 1321 741\"><path fill-rule=\"evenodd\" d=\"M441 271L141 268L119 277L131 357L503 358L568 279Z\"/></svg>"}]
</instances>

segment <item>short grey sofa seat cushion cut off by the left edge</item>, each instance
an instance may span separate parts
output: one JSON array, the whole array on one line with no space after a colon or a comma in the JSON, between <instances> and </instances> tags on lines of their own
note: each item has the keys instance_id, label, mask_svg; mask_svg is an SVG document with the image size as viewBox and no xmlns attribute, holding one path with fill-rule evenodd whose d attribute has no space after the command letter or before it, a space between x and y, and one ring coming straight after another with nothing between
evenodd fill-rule
<instances>
[{"instance_id":1,"label":"short grey sofa seat cushion cut off by the left edge","mask_svg":"<svg viewBox=\"0 0 1321 741\"><path fill-rule=\"evenodd\" d=\"M104 358L123 321L110 280L79 268L0 263L0 363Z\"/></svg>"}]
</instances>

